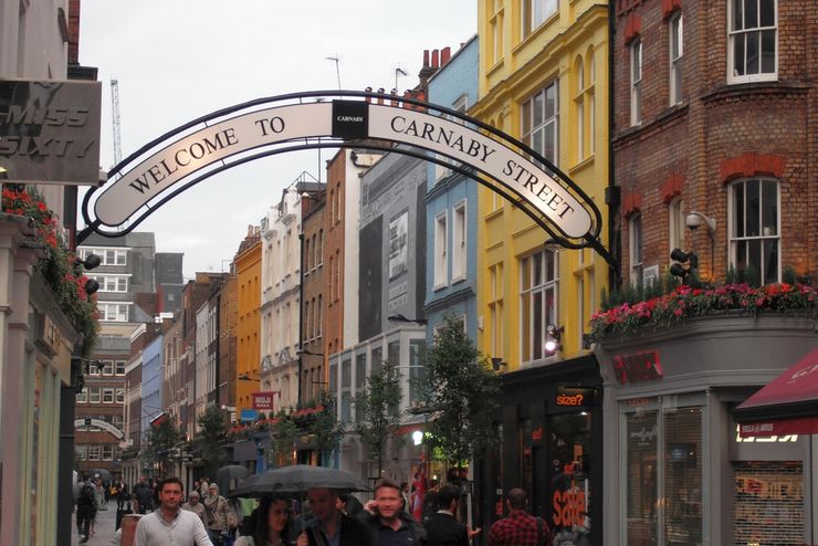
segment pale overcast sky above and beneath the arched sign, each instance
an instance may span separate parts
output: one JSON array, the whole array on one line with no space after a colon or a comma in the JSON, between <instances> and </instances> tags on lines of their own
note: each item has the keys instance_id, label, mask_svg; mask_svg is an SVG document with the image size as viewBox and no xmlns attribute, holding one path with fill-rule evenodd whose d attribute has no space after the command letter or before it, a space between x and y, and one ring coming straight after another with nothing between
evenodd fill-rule
<instances>
[{"instance_id":1,"label":"pale overcast sky above and beneath the arched sign","mask_svg":"<svg viewBox=\"0 0 818 546\"><path fill-rule=\"evenodd\" d=\"M84 0L80 62L103 82L102 157L113 167L112 78L119 82L122 154L193 118L252 98L300 91L413 87L423 50L476 32L476 0ZM322 153L322 162L331 157ZM315 150L234 167L199 183L137 228L159 252L183 252L185 276L227 271ZM322 180L326 172L322 172Z\"/></svg>"}]
</instances>

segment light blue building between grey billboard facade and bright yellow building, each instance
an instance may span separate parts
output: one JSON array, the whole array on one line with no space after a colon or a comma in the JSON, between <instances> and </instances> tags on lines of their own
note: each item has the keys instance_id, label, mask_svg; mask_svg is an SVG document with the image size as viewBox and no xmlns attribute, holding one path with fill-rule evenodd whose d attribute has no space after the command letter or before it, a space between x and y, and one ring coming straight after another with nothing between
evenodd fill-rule
<instances>
[{"instance_id":1,"label":"light blue building between grey billboard facade and bright yellow building","mask_svg":"<svg viewBox=\"0 0 818 546\"><path fill-rule=\"evenodd\" d=\"M429 80L429 102L458 112L472 106L478 99L478 55L474 35ZM478 183L444 166L428 166L428 340L444 316L463 321L466 334L476 340Z\"/></svg>"}]
</instances>

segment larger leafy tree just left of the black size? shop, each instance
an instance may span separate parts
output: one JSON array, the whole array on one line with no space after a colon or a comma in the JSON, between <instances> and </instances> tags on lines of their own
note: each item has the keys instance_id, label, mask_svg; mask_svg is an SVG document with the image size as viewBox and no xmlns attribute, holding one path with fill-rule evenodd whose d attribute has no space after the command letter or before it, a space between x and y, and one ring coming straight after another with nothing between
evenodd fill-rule
<instances>
[{"instance_id":1,"label":"larger leafy tree just left of the black size? shop","mask_svg":"<svg viewBox=\"0 0 818 546\"><path fill-rule=\"evenodd\" d=\"M461 463L496 444L493 421L500 377L465 335L462 323L445 317L426 354L418 396L430 414L429 432L443 456Z\"/></svg>"}]
</instances>

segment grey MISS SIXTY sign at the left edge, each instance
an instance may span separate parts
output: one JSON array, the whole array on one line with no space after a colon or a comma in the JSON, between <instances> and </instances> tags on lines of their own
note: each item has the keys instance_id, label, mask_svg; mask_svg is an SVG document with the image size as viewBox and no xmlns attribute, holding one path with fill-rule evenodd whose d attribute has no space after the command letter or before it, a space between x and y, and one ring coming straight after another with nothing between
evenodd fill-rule
<instances>
[{"instance_id":1,"label":"grey MISS SIXTY sign at the left edge","mask_svg":"<svg viewBox=\"0 0 818 546\"><path fill-rule=\"evenodd\" d=\"M101 101L101 82L0 80L8 181L98 186Z\"/></svg>"}]
</instances>

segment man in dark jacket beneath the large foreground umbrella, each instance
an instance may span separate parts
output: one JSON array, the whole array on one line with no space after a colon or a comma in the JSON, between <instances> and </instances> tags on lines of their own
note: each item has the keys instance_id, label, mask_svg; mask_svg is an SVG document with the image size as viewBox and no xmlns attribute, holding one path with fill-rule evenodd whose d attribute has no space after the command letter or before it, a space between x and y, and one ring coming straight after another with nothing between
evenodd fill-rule
<instances>
[{"instance_id":1,"label":"man in dark jacket beneath the large foreground umbrella","mask_svg":"<svg viewBox=\"0 0 818 546\"><path fill-rule=\"evenodd\" d=\"M306 523L308 546L373 546L366 524L338 510L338 492L327 487L307 490L313 518Z\"/></svg>"}]
</instances>

